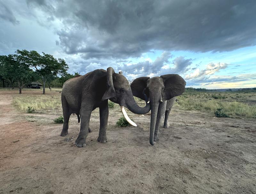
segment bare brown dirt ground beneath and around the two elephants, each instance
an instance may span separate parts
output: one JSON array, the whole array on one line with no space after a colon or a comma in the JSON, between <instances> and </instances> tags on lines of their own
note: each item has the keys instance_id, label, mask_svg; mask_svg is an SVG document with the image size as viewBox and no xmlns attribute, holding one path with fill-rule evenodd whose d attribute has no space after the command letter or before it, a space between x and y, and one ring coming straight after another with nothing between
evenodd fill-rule
<instances>
[{"instance_id":1,"label":"bare brown dirt ground beneath and around the two elephants","mask_svg":"<svg viewBox=\"0 0 256 194\"><path fill-rule=\"evenodd\" d=\"M134 115L138 127L127 128L116 127L110 114L105 144L97 142L99 115L93 114L87 145L78 148L76 116L61 137L52 116L31 122L31 114L16 110L18 95L0 91L0 194L256 193L255 119L174 108L170 128L161 128L151 146L150 114Z\"/></svg>"}]
</instances>

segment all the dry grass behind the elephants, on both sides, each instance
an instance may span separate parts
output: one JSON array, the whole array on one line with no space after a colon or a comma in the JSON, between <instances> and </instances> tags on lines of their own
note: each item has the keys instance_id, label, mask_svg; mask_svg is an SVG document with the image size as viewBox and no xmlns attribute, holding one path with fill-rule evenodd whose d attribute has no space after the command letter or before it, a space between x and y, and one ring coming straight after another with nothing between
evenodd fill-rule
<instances>
[{"instance_id":1,"label":"all the dry grass behind the elephants, on both sides","mask_svg":"<svg viewBox=\"0 0 256 194\"><path fill-rule=\"evenodd\" d=\"M61 88L52 89L60 91ZM33 93L33 91L32 91ZM56 92L55 92L56 93ZM183 110L196 110L211 112L217 108L232 117L256 118L256 93L235 93L235 92L186 92L178 97L180 104L175 103L174 107ZM145 101L135 97L139 106L145 106ZM23 112L28 107L35 108L36 112L55 112L62 114L59 93L56 95L22 95L14 99L14 105ZM98 115L98 109L92 112ZM134 116L127 111L129 116ZM118 104L109 109L110 116L122 116Z\"/></svg>"}]
</instances>

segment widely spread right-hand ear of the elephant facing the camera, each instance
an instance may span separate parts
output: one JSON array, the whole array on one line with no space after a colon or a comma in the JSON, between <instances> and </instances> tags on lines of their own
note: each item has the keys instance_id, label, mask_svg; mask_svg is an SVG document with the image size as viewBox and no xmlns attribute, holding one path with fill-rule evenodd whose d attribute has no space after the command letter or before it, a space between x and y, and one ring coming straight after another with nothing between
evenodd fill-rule
<instances>
[{"instance_id":1,"label":"widely spread right-hand ear of the elephant facing the camera","mask_svg":"<svg viewBox=\"0 0 256 194\"><path fill-rule=\"evenodd\" d=\"M170 100L185 91L186 81L178 74L160 76L164 80L163 100Z\"/></svg>"}]
</instances>

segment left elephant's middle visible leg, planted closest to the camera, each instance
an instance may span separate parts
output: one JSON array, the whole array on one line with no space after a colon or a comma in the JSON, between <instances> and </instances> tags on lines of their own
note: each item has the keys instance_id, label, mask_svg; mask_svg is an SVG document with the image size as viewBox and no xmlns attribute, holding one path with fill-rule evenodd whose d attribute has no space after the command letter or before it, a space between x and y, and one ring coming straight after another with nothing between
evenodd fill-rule
<instances>
[{"instance_id":1,"label":"left elephant's middle visible leg, planted closest to the camera","mask_svg":"<svg viewBox=\"0 0 256 194\"><path fill-rule=\"evenodd\" d=\"M81 105L80 131L79 131L78 137L76 138L76 143L75 143L75 145L77 147L86 146L86 137L87 137L88 132L89 132L89 123L90 123L90 117L91 117L91 114L92 114L92 106L89 106L87 104L84 103L84 104Z\"/></svg>"}]
</instances>

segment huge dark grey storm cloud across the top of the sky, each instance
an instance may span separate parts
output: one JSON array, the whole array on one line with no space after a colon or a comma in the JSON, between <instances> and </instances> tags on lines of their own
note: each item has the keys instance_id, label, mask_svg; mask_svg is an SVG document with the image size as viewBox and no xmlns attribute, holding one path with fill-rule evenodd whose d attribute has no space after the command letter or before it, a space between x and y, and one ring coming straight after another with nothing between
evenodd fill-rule
<instances>
[{"instance_id":1,"label":"huge dark grey storm cloud across the top of the sky","mask_svg":"<svg viewBox=\"0 0 256 194\"><path fill-rule=\"evenodd\" d=\"M60 19L60 46L86 58L137 57L152 49L230 51L256 44L254 0L27 2Z\"/></svg>"}]
</instances>

